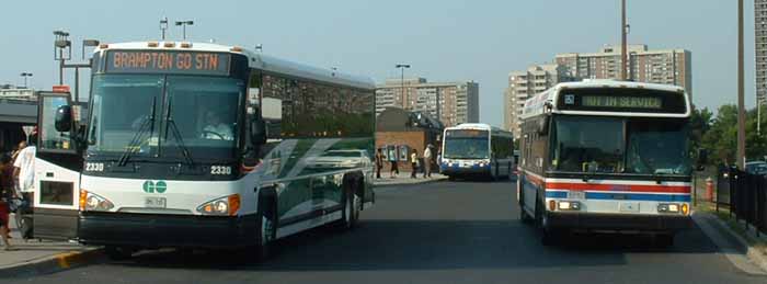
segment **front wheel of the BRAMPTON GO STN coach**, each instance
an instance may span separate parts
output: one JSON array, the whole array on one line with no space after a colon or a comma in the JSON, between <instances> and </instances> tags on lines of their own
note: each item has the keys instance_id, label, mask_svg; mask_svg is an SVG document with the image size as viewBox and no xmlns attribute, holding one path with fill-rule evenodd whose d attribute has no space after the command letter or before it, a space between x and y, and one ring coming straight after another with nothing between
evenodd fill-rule
<instances>
[{"instance_id":1,"label":"front wheel of the BRAMPTON GO STN coach","mask_svg":"<svg viewBox=\"0 0 767 284\"><path fill-rule=\"evenodd\" d=\"M262 200L262 198L259 198ZM263 198L259 205L259 240L257 257L260 261L267 260L274 255L277 239L277 206L274 200Z\"/></svg>"}]
</instances>

